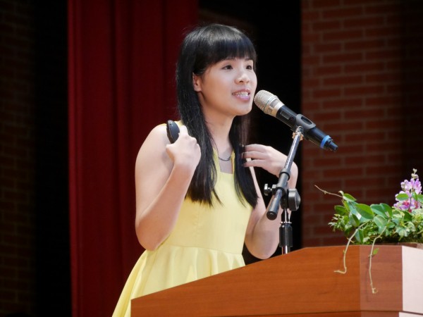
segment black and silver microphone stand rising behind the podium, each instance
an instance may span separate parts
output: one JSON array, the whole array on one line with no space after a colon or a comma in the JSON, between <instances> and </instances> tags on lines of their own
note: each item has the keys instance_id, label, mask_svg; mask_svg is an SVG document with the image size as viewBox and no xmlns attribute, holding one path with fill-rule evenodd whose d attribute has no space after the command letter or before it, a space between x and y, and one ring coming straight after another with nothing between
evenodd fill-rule
<instances>
[{"instance_id":1,"label":"black and silver microphone stand rising behind the podium","mask_svg":"<svg viewBox=\"0 0 423 317\"><path fill-rule=\"evenodd\" d=\"M271 188L264 187L264 194L272 194L269 206L267 206L266 216L270 220L276 219L278 215L279 206L283 209L281 214L281 227L279 228L279 247L282 248L282 254L287 254L290 248L293 247L293 228L291 227L288 209L290 211L298 210L300 205L300 195L297 189L288 189L288 180L290 178L290 169L293 165L295 153L298 149L298 144L302 140L303 128L298 126L294 132L293 144L290 147L285 166L279 173L279 180L277 185Z\"/></svg>"}]
</instances>

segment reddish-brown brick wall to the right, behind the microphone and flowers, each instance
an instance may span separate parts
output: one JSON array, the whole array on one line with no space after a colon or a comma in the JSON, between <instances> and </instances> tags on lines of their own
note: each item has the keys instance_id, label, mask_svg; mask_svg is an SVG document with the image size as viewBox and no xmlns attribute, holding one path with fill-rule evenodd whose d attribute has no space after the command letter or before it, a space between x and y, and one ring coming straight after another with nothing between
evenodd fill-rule
<instances>
[{"instance_id":1,"label":"reddish-brown brick wall to the right, behind the microphone and flowers","mask_svg":"<svg viewBox=\"0 0 423 317\"><path fill-rule=\"evenodd\" d=\"M303 247L345 244L338 197L393 204L422 160L422 1L302 0L302 113L336 153L302 142Z\"/></svg>"}]
</instances>

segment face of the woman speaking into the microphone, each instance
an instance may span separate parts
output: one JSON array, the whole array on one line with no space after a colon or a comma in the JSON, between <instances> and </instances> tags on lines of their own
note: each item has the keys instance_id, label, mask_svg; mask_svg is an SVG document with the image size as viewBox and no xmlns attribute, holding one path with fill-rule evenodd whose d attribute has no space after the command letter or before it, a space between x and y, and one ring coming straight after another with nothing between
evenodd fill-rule
<instances>
[{"instance_id":1,"label":"face of the woman speaking into the microphone","mask_svg":"<svg viewBox=\"0 0 423 317\"><path fill-rule=\"evenodd\" d=\"M192 76L205 116L243 116L251 111L257 75L251 59L231 58L209 66L203 75Z\"/></svg>"}]
</instances>

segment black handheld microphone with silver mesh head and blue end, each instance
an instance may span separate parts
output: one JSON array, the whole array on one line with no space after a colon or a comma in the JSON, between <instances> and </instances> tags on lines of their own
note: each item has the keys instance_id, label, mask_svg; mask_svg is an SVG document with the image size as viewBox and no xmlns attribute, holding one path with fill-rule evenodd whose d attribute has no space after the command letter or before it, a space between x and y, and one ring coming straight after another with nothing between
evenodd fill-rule
<instances>
[{"instance_id":1,"label":"black handheld microphone with silver mesh head and blue end","mask_svg":"<svg viewBox=\"0 0 423 317\"><path fill-rule=\"evenodd\" d=\"M302 114L297 114L285 106L274 94L260 90L254 97L255 104L264 112L281 120L293 132L298 127L303 128L302 135L305 139L317 144L321 149L336 151L338 146L333 143L329 135L319 130L316 125Z\"/></svg>"}]
</instances>

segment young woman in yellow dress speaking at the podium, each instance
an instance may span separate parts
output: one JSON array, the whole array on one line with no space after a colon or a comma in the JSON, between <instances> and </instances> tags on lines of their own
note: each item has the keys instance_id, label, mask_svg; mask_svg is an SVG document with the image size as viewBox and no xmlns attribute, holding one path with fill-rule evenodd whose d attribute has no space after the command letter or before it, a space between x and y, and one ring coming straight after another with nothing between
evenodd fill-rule
<instances>
[{"instance_id":1,"label":"young woman in yellow dress speaking at the podium","mask_svg":"<svg viewBox=\"0 0 423 317\"><path fill-rule=\"evenodd\" d=\"M255 167L278 177L286 156L247 144L245 115L257 87L256 52L235 27L197 27L176 69L180 134L158 125L135 164L135 230L145 248L114 316L130 299L244 266L243 245L259 259L278 247L279 221L266 218ZM293 164L288 185L298 168Z\"/></svg>"}]
</instances>

